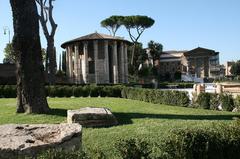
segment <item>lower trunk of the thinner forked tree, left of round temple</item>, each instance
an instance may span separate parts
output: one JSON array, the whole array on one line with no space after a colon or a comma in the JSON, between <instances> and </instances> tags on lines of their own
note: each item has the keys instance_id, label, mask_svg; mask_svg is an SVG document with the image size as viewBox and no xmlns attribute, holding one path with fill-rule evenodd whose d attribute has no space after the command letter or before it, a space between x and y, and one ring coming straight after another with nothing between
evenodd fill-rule
<instances>
[{"instance_id":1,"label":"lower trunk of the thinner forked tree, left of round temple","mask_svg":"<svg viewBox=\"0 0 240 159\"><path fill-rule=\"evenodd\" d=\"M54 47L54 39L52 37L48 38L47 42L47 55L49 58L48 63L48 69L49 69L49 84L54 85L55 84L55 74L56 74L56 52Z\"/></svg>"}]
</instances>

